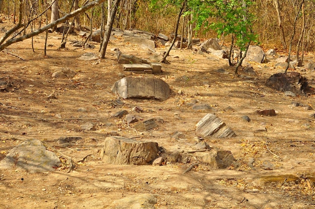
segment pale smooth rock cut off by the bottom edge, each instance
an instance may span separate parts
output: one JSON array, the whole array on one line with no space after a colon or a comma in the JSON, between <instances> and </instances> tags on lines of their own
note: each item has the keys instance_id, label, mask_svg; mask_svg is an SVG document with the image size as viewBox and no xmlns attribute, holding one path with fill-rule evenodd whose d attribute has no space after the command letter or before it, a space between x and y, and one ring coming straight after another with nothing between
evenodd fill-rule
<instances>
[{"instance_id":1,"label":"pale smooth rock cut off by the bottom edge","mask_svg":"<svg viewBox=\"0 0 315 209\"><path fill-rule=\"evenodd\" d=\"M153 194L136 194L112 202L112 209L155 209L157 199Z\"/></svg>"}]
</instances>

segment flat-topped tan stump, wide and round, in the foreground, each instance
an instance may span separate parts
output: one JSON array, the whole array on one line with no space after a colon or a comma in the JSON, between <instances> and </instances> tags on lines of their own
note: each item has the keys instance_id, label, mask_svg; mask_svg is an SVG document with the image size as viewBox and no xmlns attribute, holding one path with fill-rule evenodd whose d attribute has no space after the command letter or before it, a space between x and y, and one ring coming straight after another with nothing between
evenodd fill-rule
<instances>
[{"instance_id":1,"label":"flat-topped tan stump, wide and round, in the foreground","mask_svg":"<svg viewBox=\"0 0 315 209\"><path fill-rule=\"evenodd\" d=\"M101 159L113 164L148 165L157 157L159 145L156 142L139 142L119 136L106 137L101 150Z\"/></svg>"}]
</instances>

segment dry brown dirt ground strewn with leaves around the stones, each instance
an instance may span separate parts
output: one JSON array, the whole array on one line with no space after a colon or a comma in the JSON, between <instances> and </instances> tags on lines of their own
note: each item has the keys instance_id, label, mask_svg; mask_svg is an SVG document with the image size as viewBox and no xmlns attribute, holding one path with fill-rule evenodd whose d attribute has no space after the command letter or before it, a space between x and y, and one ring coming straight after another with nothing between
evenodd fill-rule
<instances>
[{"instance_id":1,"label":"dry brown dirt ground strewn with leaves around the stones","mask_svg":"<svg viewBox=\"0 0 315 209\"><path fill-rule=\"evenodd\" d=\"M2 24L0 27L9 27ZM2 33L3 34L3 33ZM1 34L1 35L2 35ZM69 40L81 40L70 36ZM148 58L151 54L138 46L110 42L106 59L82 61L78 57L93 50L74 48L57 50L59 34L49 34L47 57L43 57L44 34L8 47L15 55L0 52L0 78L8 79L7 90L0 92L0 160L16 145L28 139L39 139L76 163L55 172L29 174L24 171L0 170L0 208L110 208L117 199L134 194L154 194L156 208L313 208L314 193L314 117L313 111L290 107L292 101L313 105L313 95L289 97L267 88L264 83L281 68L272 63L254 64L257 76L233 75L226 60L207 59L190 50L172 50L163 64L163 72L154 77L165 80L172 88L171 97L163 102L125 99L116 105L117 96L110 87L120 79L122 65L111 48L125 54ZM156 49L164 50L163 48ZM312 57L308 58L313 59ZM53 79L57 69L76 71L73 79ZM225 69L227 73L219 73ZM300 68L303 69L303 68ZM297 71L300 71L297 69ZM302 70L303 71L303 70ZM301 72L309 80L313 70ZM127 76L152 76L129 75ZM178 94L182 90L183 94ZM49 99L48 95L56 96ZM190 103L207 103L213 110L194 111ZM133 107L143 119L162 118L157 128L139 133L112 114ZM275 117L255 112L274 109ZM159 143L167 152L194 149L195 125L207 113L214 113L237 134L231 139L206 138L212 147L230 150L239 167L213 169L200 162L183 174L202 153L185 154L187 163L163 166L113 165L103 163L99 154L103 140L113 131L120 136ZM249 116L251 122L241 119ZM81 125L92 122L95 131ZM264 130L264 131L262 131ZM171 136L182 132L185 137ZM61 147L62 136L82 137L76 144ZM248 162L254 159L253 167ZM264 163L271 163L266 169Z\"/></svg>"}]
</instances>

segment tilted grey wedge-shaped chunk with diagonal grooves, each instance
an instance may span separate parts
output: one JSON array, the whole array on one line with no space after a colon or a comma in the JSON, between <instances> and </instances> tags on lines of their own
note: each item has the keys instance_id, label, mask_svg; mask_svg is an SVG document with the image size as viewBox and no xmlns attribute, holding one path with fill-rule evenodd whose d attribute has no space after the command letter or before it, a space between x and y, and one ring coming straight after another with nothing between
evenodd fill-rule
<instances>
[{"instance_id":1,"label":"tilted grey wedge-shaped chunk with diagonal grooves","mask_svg":"<svg viewBox=\"0 0 315 209\"><path fill-rule=\"evenodd\" d=\"M230 138L236 134L213 114L207 114L196 124L196 135L200 137L213 136Z\"/></svg>"}]
</instances>

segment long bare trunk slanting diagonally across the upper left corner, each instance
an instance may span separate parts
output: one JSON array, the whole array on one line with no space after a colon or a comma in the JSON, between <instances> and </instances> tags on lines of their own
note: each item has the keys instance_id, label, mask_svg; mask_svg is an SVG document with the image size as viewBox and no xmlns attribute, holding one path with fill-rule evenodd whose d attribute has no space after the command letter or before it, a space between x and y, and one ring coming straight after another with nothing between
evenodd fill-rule
<instances>
[{"instance_id":1,"label":"long bare trunk slanting diagonally across the upper left corner","mask_svg":"<svg viewBox=\"0 0 315 209\"><path fill-rule=\"evenodd\" d=\"M55 22L50 23L50 24L48 24L48 25L46 25L46 26L44 26L44 27L42 27L42 28L40 28L40 29L34 31L33 33L26 34L26 35L21 36L21 37L19 37L19 38L10 39L10 40L8 40L6 43L2 44L2 43L6 40L6 39L4 39L4 37L5 37L7 34L5 34L5 36L0 39L0 44L1 44L1 45L0 45L0 51L4 50L6 47L10 46L11 44L14 44L14 43L17 43L17 42L20 42L20 41L24 41L24 40L26 40L26 39L29 39L29 38L33 37L33 36L36 36L36 35L38 35L38 34L41 34L41 33L45 32L46 30L48 30L48 29L50 29L50 28L52 28L52 27L54 27L54 26L57 26L58 24L63 23L63 22L65 22L66 20L69 20L70 18L75 17L76 15L79 15L79 14L81 14L81 13L84 13L85 11L87 11L87 10L89 10L89 9L91 9L91 8L93 8L93 7L95 7L96 5L99 5L99 4L103 3L104 1L105 1L105 0L96 0L96 1L94 1L94 2L91 2L91 3L87 4L87 5L85 5L84 7L82 7L82 8L80 8L80 9L77 9L77 10L75 10L75 11L69 13L69 14L66 15L66 16L63 16L62 18L59 18L59 19L56 20ZM20 0L20 2L23 2L23 0ZM22 10L23 10L23 7L22 7ZM21 18L20 20L22 20L22 18ZM20 21L20 20L19 20L19 21ZM22 24L21 24L21 25L22 25ZM14 28L16 28L16 27L14 27ZM21 28L21 26L19 26L18 29L19 29L19 28ZM13 29L11 29L10 31L12 31L12 30L13 30ZM17 30L17 29L15 29L14 31L16 31L16 30ZM13 31L13 32L14 32L14 31ZM9 32L9 31L8 31L8 32ZM8 32L7 32L7 33L8 33ZM12 33L13 33L13 32L12 32ZM11 34L12 34L12 33L11 33ZM9 35L9 36L10 36L10 35ZM8 37L9 37L9 36L8 36ZM8 38L8 37L7 37L7 38Z\"/></svg>"}]
</instances>

